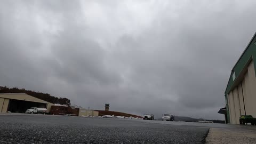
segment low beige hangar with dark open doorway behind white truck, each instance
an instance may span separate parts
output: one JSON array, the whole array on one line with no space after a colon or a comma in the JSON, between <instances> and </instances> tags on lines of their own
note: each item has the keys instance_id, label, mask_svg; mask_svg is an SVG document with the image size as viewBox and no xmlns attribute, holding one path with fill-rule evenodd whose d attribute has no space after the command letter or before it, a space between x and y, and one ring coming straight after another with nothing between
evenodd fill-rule
<instances>
[{"instance_id":1,"label":"low beige hangar with dark open doorway behind white truck","mask_svg":"<svg viewBox=\"0 0 256 144\"><path fill-rule=\"evenodd\" d=\"M32 97L26 93L1 93L0 113L25 113L30 107L46 108L50 112L53 103Z\"/></svg>"}]
</instances>

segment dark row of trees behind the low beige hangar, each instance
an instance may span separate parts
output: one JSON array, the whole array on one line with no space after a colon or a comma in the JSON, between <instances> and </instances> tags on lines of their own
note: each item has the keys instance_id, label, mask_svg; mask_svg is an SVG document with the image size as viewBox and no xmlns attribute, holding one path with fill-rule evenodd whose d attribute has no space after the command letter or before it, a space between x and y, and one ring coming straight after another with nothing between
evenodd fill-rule
<instances>
[{"instance_id":1,"label":"dark row of trees behind the low beige hangar","mask_svg":"<svg viewBox=\"0 0 256 144\"><path fill-rule=\"evenodd\" d=\"M26 93L35 98L45 100L45 101L48 101L51 103L59 103L61 105L70 105L70 100L67 98L57 98L57 97L53 97L52 95L50 95L48 93L34 92L34 91L25 90L25 89L18 89L18 87L9 88L6 86L0 86L0 93Z\"/></svg>"}]
</instances>

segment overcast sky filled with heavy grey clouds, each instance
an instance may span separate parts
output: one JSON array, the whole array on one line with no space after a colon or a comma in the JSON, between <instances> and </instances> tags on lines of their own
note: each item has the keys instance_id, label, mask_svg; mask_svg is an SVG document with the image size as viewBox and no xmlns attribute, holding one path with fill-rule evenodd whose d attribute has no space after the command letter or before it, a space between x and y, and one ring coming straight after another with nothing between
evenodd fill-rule
<instances>
[{"instance_id":1,"label":"overcast sky filled with heavy grey clouds","mask_svg":"<svg viewBox=\"0 0 256 144\"><path fill-rule=\"evenodd\" d=\"M1 1L0 85L72 105L224 119L255 1Z\"/></svg>"}]
</instances>

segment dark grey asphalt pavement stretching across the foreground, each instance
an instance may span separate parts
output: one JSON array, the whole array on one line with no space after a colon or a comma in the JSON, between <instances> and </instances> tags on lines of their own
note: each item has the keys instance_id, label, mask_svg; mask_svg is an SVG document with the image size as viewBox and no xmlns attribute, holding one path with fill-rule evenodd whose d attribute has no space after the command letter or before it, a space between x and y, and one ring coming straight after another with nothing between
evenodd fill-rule
<instances>
[{"instance_id":1,"label":"dark grey asphalt pavement stretching across the foreground","mask_svg":"<svg viewBox=\"0 0 256 144\"><path fill-rule=\"evenodd\" d=\"M135 119L0 115L0 143L205 143L208 131Z\"/></svg>"}]
</instances>

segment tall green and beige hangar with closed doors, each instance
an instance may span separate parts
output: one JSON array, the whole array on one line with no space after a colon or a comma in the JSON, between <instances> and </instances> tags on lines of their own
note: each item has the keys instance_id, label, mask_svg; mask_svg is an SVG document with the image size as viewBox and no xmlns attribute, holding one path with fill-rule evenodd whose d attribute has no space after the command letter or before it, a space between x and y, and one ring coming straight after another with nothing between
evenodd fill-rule
<instances>
[{"instance_id":1,"label":"tall green and beige hangar with closed doors","mask_svg":"<svg viewBox=\"0 0 256 144\"><path fill-rule=\"evenodd\" d=\"M227 121L230 124L239 124L241 115L256 117L255 34L231 70L226 87Z\"/></svg>"}]
</instances>

